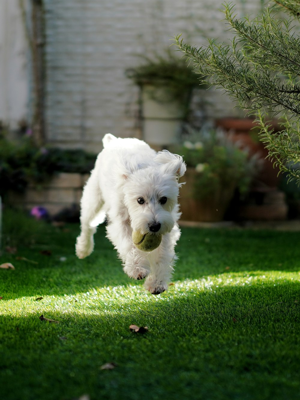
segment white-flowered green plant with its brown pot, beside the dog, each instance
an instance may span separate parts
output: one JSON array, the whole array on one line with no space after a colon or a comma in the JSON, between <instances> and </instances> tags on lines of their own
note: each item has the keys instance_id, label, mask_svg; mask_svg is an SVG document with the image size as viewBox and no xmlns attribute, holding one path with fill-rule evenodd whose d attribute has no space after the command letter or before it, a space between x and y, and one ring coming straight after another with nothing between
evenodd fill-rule
<instances>
[{"instance_id":1,"label":"white-flowered green plant with its brown pot, beside the dog","mask_svg":"<svg viewBox=\"0 0 300 400\"><path fill-rule=\"evenodd\" d=\"M236 189L246 194L258 170L258 158L238 148L219 128L202 128L172 151L182 155L187 171L180 191L182 220L216 222Z\"/></svg>"}]
</instances>

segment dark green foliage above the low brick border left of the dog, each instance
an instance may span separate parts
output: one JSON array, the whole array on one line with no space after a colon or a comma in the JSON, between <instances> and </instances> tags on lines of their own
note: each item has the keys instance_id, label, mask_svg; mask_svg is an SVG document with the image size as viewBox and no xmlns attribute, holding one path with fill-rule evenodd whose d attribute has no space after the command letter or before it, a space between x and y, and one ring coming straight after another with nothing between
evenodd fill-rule
<instances>
[{"instance_id":1,"label":"dark green foliage above the low brick border left of the dog","mask_svg":"<svg viewBox=\"0 0 300 400\"><path fill-rule=\"evenodd\" d=\"M83 150L37 148L29 136L12 142L0 135L0 196L22 192L29 181L44 182L56 172L89 173L96 156Z\"/></svg>"}]
</instances>

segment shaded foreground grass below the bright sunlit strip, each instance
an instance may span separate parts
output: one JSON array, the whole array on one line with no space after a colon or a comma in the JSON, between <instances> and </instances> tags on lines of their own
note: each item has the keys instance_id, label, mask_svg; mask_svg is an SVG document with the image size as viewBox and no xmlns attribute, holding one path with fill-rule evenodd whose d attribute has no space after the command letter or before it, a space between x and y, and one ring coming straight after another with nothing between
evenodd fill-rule
<instances>
[{"instance_id":1,"label":"shaded foreground grass below the bright sunlit strip","mask_svg":"<svg viewBox=\"0 0 300 400\"><path fill-rule=\"evenodd\" d=\"M107 313L103 303L86 312L78 301L64 313L48 312L59 324L40 321L37 312L2 316L4 398L24 390L31 397L22 398L43 399L83 393L132 399L145 392L148 398L297 398L300 282L172 290L170 298L141 295L121 306L111 300ZM132 323L149 331L134 334ZM103 371L106 362L118 366Z\"/></svg>"}]
</instances>

